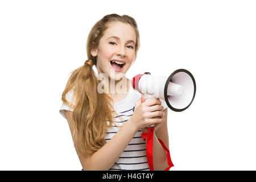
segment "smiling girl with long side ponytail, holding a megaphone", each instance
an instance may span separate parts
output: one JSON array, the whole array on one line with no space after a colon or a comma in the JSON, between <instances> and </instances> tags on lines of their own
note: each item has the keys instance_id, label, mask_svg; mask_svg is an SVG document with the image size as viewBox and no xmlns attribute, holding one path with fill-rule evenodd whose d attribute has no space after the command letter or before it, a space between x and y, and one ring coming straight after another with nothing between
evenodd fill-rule
<instances>
[{"instance_id":1,"label":"smiling girl with long side ponytail, holding a megaphone","mask_svg":"<svg viewBox=\"0 0 256 182\"><path fill-rule=\"evenodd\" d=\"M125 76L139 45L133 18L106 15L89 33L89 59L69 77L60 114L68 121L83 170L149 170L141 134L152 124L154 169L168 167L166 151L156 138L168 148L167 105L159 99L145 101Z\"/></svg>"}]
</instances>

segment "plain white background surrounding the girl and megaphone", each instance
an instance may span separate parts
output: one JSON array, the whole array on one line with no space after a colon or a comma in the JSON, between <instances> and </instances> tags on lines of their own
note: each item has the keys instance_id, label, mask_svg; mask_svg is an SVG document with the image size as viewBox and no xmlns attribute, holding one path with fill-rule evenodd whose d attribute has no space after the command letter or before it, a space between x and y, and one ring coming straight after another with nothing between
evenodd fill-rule
<instances>
[{"instance_id":1,"label":"plain white background surrounding the girl and megaphone","mask_svg":"<svg viewBox=\"0 0 256 182\"><path fill-rule=\"evenodd\" d=\"M193 104L168 109L171 170L255 170L255 1L1 1L0 169L81 170L59 114L69 73L84 64L104 15L141 35L127 72L196 79Z\"/></svg>"}]
</instances>

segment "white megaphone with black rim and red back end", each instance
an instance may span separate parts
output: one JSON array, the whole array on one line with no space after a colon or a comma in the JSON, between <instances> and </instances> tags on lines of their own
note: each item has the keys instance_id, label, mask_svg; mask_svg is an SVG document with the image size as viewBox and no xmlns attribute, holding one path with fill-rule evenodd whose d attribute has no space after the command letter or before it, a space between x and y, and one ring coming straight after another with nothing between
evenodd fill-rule
<instances>
[{"instance_id":1,"label":"white megaphone with black rim and red back end","mask_svg":"<svg viewBox=\"0 0 256 182\"><path fill-rule=\"evenodd\" d=\"M131 84L147 98L166 101L167 106L177 112L187 109L196 95L195 78L186 69L177 69L170 76L153 76L144 72L134 76Z\"/></svg>"}]
</instances>

